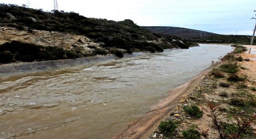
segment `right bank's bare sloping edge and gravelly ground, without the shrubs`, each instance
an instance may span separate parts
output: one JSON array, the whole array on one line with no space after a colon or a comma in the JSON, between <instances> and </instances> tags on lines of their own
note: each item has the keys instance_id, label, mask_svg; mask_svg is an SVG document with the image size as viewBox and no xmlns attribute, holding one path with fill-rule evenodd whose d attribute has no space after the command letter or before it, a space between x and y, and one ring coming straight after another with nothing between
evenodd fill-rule
<instances>
[{"instance_id":1,"label":"right bank's bare sloping edge and gravelly ground, without the shrubs","mask_svg":"<svg viewBox=\"0 0 256 139\"><path fill-rule=\"evenodd\" d=\"M209 116L208 102L216 104L216 111L218 111L217 118L219 122L226 123L226 125L234 125L234 128L238 130L240 126L248 123L246 131L250 134L246 134L248 138L254 138L256 135L255 126L255 81L256 81L256 54L254 49L256 46L246 46L248 49L253 48L252 51L246 53L235 54L235 57L241 56L242 59L250 59L249 61L236 61L239 65L239 76L247 77L246 81L231 81L228 83L229 73L225 74L224 78L216 78L211 75L213 68L210 68L199 75L195 76L192 80L170 91L170 95L156 106L152 107L143 117L140 117L136 122L130 125L125 131L116 136L115 138L122 139L163 139L163 138L185 138L183 132L191 131L192 129L198 131L199 134L204 133L204 137L208 139L216 139L220 135L216 130L211 116ZM251 54L249 54L251 53ZM220 67L222 64L227 64L228 60L219 65L215 65L214 68ZM228 87L223 87L222 84L227 83ZM242 87L240 86L242 84ZM244 88L243 88L244 86ZM241 94L240 92L243 92ZM175 95L173 95L175 94ZM241 108L237 106L237 102L232 104L233 98L242 98L240 101L244 102ZM200 109L205 108L204 114L200 119L187 114L184 108L187 106L197 105ZM218 107L217 107L218 106ZM237 110L236 112L232 112ZM221 111L222 110L222 111ZM247 112L247 110L250 110ZM240 114L240 120L237 114ZM246 117L247 116L247 117ZM244 120L246 117L250 120ZM235 120L238 119L242 125L235 124ZM159 129L159 123L161 121L175 121L178 124L175 129L175 134L171 134L167 131ZM252 122L249 122L252 121ZM222 126L223 127L223 126ZM222 130L222 129L220 129ZM232 129L230 129L232 131ZM225 131L227 132L227 131ZM245 132L245 131L244 131ZM149 135L150 134L150 135ZM228 133L227 133L228 134ZM229 133L231 134L231 132ZM236 134L225 135L236 136ZM239 133L239 136L241 134ZM199 136L200 138L200 136ZM192 138L191 138L192 139ZM194 139L194 138L193 138Z\"/></svg>"}]
</instances>

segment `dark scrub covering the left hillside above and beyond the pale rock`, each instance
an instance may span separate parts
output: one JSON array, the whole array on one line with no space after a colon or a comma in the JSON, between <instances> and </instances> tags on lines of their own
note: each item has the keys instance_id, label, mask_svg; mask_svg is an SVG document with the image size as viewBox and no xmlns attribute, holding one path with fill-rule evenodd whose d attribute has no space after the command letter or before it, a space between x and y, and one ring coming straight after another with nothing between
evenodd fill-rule
<instances>
[{"instance_id":1,"label":"dark scrub covering the left hillside above and beyond the pale rock","mask_svg":"<svg viewBox=\"0 0 256 139\"><path fill-rule=\"evenodd\" d=\"M163 49L175 47L188 49L189 46L195 45L187 41L183 41L183 43L180 41L180 37L170 34L152 33L130 19L116 22L107 19L87 18L75 12L57 10L43 12L42 9L37 10L4 3L0 4L0 26L14 27L32 33L32 30L35 29L83 35L93 42L101 44L103 50L95 50L96 54L117 53L115 49L126 50L128 53L136 51L162 52ZM113 48L115 49L113 50ZM16 56L15 50L0 49L0 54L6 55L7 53L11 53L12 56L10 57ZM83 56L83 54L77 55Z\"/></svg>"}]
</instances>

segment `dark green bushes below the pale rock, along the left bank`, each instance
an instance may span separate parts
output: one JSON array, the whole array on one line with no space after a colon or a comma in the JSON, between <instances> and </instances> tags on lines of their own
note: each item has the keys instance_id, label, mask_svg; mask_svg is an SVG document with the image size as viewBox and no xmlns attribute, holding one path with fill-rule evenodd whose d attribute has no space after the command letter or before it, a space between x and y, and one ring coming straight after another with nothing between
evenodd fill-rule
<instances>
[{"instance_id":1,"label":"dark green bushes below the pale rock, along the left bank","mask_svg":"<svg viewBox=\"0 0 256 139\"><path fill-rule=\"evenodd\" d=\"M85 56L81 51L69 51L59 47L40 46L19 41L6 42L0 45L0 63L15 61L44 61Z\"/></svg>"}]
</instances>

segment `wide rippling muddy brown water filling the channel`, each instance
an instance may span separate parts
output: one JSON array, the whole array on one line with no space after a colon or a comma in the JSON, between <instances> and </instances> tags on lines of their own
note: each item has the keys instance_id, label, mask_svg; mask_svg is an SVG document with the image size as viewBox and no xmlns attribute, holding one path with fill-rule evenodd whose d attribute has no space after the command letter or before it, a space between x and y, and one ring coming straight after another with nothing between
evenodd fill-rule
<instances>
[{"instance_id":1,"label":"wide rippling muddy brown water filling the channel","mask_svg":"<svg viewBox=\"0 0 256 139\"><path fill-rule=\"evenodd\" d=\"M201 44L0 76L0 138L109 139L230 51Z\"/></svg>"}]
</instances>

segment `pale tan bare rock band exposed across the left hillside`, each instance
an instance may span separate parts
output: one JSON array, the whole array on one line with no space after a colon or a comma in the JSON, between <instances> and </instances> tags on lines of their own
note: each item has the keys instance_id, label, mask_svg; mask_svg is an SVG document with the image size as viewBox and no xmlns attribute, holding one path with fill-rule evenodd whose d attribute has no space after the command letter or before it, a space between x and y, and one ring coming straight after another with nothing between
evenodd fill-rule
<instances>
[{"instance_id":1,"label":"pale tan bare rock band exposed across the left hillside","mask_svg":"<svg viewBox=\"0 0 256 139\"><path fill-rule=\"evenodd\" d=\"M99 47L99 44L88 37L58 32L37 31L28 29L19 31L15 28L0 27L0 44L10 41L21 41L42 46L61 47L67 50L81 50L84 53L92 51L88 46Z\"/></svg>"}]
</instances>

